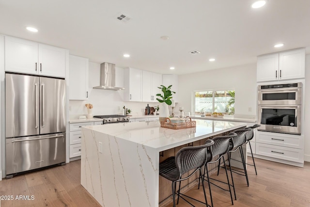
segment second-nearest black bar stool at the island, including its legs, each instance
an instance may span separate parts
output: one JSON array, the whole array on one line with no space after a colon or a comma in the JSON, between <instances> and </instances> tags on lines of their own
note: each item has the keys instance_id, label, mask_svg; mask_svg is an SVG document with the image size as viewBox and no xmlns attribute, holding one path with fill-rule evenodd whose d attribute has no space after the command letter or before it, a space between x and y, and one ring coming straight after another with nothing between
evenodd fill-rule
<instances>
[{"instance_id":1,"label":"second-nearest black bar stool at the island, including its legs","mask_svg":"<svg viewBox=\"0 0 310 207\"><path fill-rule=\"evenodd\" d=\"M217 180L217 179L214 179L214 178L211 178L209 176L208 164L209 163L216 163L217 161L220 162L221 158L224 159L224 155L229 151L229 148L230 148L229 147L230 140L233 139L236 136L237 136L236 133L231 132L227 136L217 136L217 137L214 137L212 139L214 144L212 146L210 146L209 149L207 150L208 160L205 163L205 168L204 168L204 172L203 172L203 179L208 181L209 191L210 191L210 198L211 198L211 206L212 207L213 207L213 199L212 199L212 192L211 192L211 185L210 185L210 183L215 185L215 186L217 186L218 188L220 188L220 189L222 189L224 191L229 191L230 195L231 195L232 204L233 204L233 196L232 196L231 184L229 183L229 178L228 178L228 173L227 173L226 165L224 165L224 166L225 166L225 172L226 172L226 177L227 177L227 183L223 182L223 181L220 181L220 180ZM208 142L208 141L209 140L207 140L206 142ZM218 158L216 160L213 160L217 156L218 156ZM204 178L205 173L207 174L207 179ZM210 179L227 184L229 189L228 190L224 189L224 188L216 185L215 183L210 182Z\"/></svg>"}]
</instances>

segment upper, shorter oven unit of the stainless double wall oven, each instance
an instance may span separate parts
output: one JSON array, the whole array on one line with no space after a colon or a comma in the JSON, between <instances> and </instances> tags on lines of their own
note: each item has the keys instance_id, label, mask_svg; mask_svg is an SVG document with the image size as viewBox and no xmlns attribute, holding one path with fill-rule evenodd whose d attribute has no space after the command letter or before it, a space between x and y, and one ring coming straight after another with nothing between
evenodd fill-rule
<instances>
[{"instance_id":1,"label":"upper, shorter oven unit of the stainless double wall oven","mask_svg":"<svg viewBox=\"0 0 310 207\"><path fill-rule=\"evenodd\" d=\"M301 105L302 83L260 85L258 88L259 105Z\"/></svg>"}]
</instances>

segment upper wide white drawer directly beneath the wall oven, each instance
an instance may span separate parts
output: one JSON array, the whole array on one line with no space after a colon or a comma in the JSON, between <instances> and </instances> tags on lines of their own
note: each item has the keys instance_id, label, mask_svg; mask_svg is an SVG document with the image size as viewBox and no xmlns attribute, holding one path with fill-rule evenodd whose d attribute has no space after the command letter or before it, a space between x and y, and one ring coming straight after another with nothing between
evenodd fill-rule
<instances>
[{"instance_id":1,"label":"upper wide white drawer directly beneath the wall oven","mask_svg":"<svg viewBox=\"0 0 310 207\"><path fill-rule=\"evenodd\" d=\"M293 147L297 149L304 148L304 136L293 134L280 134L271 132L256 133L256 142L265 144L274 144L278 146Z\"/></svg>"}]
</instances>

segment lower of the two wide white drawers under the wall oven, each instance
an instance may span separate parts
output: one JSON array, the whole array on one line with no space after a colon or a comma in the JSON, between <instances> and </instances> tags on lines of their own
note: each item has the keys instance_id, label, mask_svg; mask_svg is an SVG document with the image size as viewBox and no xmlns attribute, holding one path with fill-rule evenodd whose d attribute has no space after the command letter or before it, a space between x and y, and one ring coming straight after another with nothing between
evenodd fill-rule
<instances>
[{"instance_id":1,"label":"lower of the two wide white drawers under the wall oven","mask_svg":"<svg viewBox=\"0 0 310 207\"><path fill-rule=\"evenodd\" d=\"M293 162L304 162L304 150L302 149L256 143L256 154Z\"/></svg>"}]
</instances>

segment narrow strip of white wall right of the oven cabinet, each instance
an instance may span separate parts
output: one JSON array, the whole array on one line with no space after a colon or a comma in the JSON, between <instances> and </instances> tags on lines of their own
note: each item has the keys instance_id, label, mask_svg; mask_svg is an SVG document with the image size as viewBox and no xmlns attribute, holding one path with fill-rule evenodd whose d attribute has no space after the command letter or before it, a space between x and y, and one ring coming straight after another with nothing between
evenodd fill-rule
<instances>
[{"instance_id":1,"label":"narrow strip of white wall right of the oven cabinet","mask_svg":"<svg viewBox=\"0 0 310 207\"><path fill-rule=\"evenodd\" d=\"M304 147L304 159L310 162L310 55L306 55L306 77L305 77L305 121L304 121L304 132L305 132L305 147Z\"/></svg>"}]
</instances>

